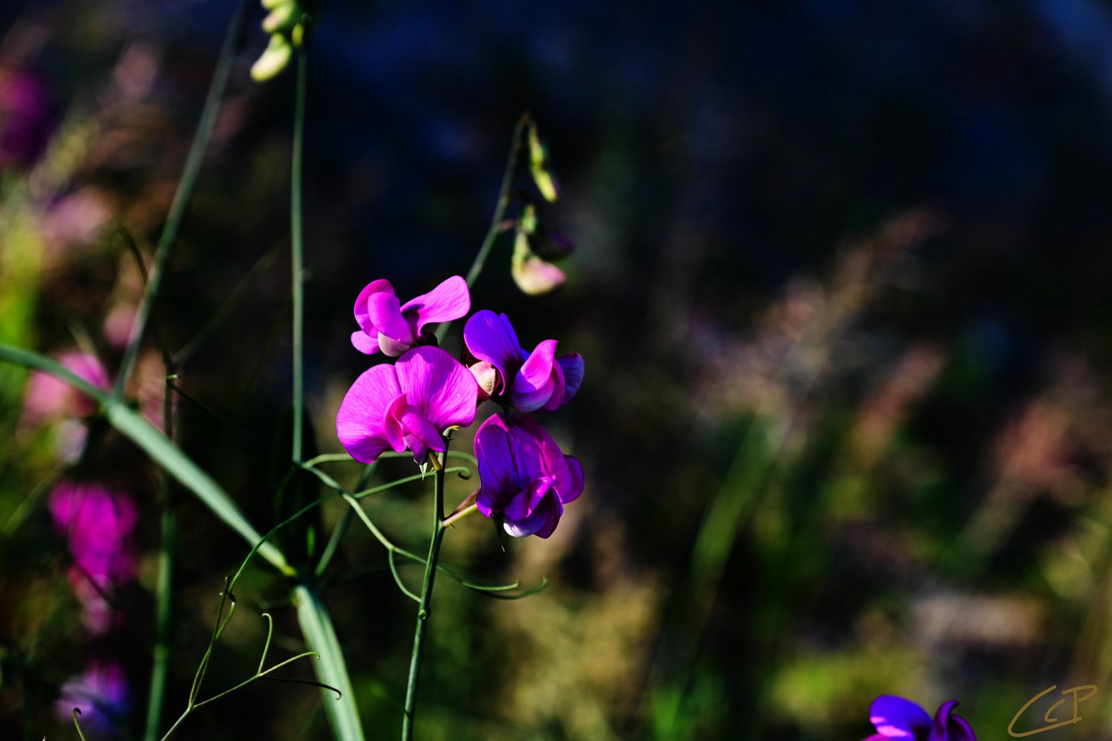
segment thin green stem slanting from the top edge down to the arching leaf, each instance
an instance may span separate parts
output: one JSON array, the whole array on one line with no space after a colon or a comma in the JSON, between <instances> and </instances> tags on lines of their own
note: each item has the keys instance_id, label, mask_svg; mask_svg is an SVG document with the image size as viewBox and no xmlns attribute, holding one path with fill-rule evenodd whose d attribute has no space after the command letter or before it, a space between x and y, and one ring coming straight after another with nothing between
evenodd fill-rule
<instances>
[{"instance_id":1,"label":"thin green stem slanting from the top edge down to the arching leaf","mask_svg":"<svg viewBox=\"0 0 1112 741\"><path fill-rule=\"evenodd\" d=\"M162 227L162 234L158 240L158 251L155 253L155 270L147 283L147 292L143 297L142 306L136 316L135 324L131 327L131 337L128 339L128 347L123 351L123 360L120 362L120 372L116 377L116 385L112 394L120 399L127 388L128 378L135 366L136 357L142 344L143 333L147 323L155 311L158 301L159 289L162 287L162 279L166 277L166 268L173 250L173 241L178 237L178 227L181 226L181 218L186 214L189 199L193 194L193 186L197 184L197 176L200 173L201 163L205 160L205 150L208 149L212 129L216 126L217 113L220 110L220 100L224 98L225 88L228 84L228 77L231 74L232 64L236 61L236 52L242 43L247 21L250 20L250 10L254 7L251 0L241 0L236 14L232 16L228 26L228 33L224 38L224 46L220 48L220 57L216 62L216 71L212 73L212 81L209 83L208 97L205 99L205 108L201 109L201 119L197 124L197 133L193 136L193 143L189 148L189 156L186 158L186 167L181 172L181 180L178 181L178 189L173 193L173 201L170 203L170 212L166 217L166 226Z\"/></svg>"}]
</instances>

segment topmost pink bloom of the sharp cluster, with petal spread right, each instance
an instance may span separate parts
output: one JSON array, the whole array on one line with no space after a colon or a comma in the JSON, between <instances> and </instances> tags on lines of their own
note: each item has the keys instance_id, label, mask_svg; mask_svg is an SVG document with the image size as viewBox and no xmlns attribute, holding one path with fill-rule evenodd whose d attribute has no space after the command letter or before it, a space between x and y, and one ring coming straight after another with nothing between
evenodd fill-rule
<instances>
[{"instance_id":1,"label":"topmost pink bloom of the sharp cluster, with petal spread right","mask_svg":"<svg viewBox=\"0 0 1112 741\"><path fill-rule=\"evenodd\" d=\"M355 300L359 331L351 333L351 344L368 356L381 350L396 358L418 344L435 344L435 340L421 336L425 324L459 319L470 309L467 281L459 276L405 304L394 294L390 281L379 279L368 283Z\"/></svg>"}]
</instances>

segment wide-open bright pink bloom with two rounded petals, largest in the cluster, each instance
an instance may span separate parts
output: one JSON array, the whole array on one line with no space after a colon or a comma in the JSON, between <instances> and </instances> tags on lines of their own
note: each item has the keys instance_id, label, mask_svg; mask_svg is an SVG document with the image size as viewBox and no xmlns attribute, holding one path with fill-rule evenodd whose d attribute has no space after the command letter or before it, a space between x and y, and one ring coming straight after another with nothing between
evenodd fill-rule
<instances>
[{"instance_id":1,"label":"wide-open bright pink bloom with two rounded petals, largest in the cluster","mask_svg":"<svg viewBox=\"0 0 1112 741\"><path fill-rule=\"evenodd\" d=\"M423 463L430 450L447 449L445 429L471 423L477 394L475 377L458 360L439 348L414 348L356 379L336 414L336 433L363 463L407 449Z\"/></svg>"}]
</instances>

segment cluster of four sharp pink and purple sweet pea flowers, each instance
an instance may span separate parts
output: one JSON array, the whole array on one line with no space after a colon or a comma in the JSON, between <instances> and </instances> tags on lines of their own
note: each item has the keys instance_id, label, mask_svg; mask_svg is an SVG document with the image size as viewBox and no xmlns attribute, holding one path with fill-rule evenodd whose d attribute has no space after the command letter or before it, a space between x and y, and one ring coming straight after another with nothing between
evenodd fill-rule
<instances>
[{"instance_id":1,"label":"cluster of four sharp pink and purple sweet pea flowers","mask_svg":"<svg viewBox=\"0 0 1112 741\"><path fill-rule=\"evenodd\" d=\"M467 283L458 276L404 304L389 281L369 283L355 303L359 331L351 343L360 352L381 351L397 361L371 367L351 384L336 417L337 434L360 462L370 463L388 450L408 450L423 463L430 453L447 450L448 428L467 427L477 404L492 399L505 411L476 432L477 509L510 535L547 538L564 504L583 492L583 469L540 424L509 409L528 413L565 405L583 383L583 358L557 358L556 340L529 352L505 314L483 310L464 327L465 366L425 330L469 310Z\"/></svg>"}]
</instances>

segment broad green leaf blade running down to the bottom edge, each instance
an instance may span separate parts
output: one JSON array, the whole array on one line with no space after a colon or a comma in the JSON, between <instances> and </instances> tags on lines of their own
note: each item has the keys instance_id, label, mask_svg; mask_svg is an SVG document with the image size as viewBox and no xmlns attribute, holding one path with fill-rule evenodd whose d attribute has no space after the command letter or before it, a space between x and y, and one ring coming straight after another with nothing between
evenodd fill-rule
<instances>
[{"instance_id":1,"label":"broad green leaf blade running down to the bottom edge","mask_svg":"<svg viewBox=\"0 0 1112 741\"><path fill-rule=\"evenodd\" d=\"M305 584L298 584L294 590L297 601L297 620L301 623L301 633L310 651L320 654L320 661L314 662L314 670L321 683L340 691L336 699L328 690L321 690L321 702L328 713L328 723L332 728L336 741L364 741L363 724L359 722L359 709L355 704L355 692L351 679L344 663L344 651L332 629L331 618L320 598Z\"/></svg>"}]
</instances>

